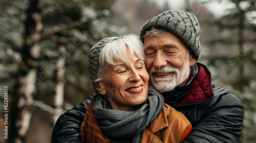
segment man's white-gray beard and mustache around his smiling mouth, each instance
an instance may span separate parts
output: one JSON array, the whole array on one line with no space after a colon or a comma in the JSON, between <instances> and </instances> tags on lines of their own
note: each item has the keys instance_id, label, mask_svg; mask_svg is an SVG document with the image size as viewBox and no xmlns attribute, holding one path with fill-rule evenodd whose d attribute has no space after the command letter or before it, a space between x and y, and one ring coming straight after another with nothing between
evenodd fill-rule
<instances>
[{"instance_id":1,"label":"man's white-gray beard and mustache around his smiling mouth","mask_svg":"<svg viewBox=\"0 0 256 143\"><path fill-rule=\"evenodd\" d=\"M161 93L166 91L172 91L176 86L184 82L189 76L189 72L190 72L189 54L184 64L185 64L184 68L182 69L181 72L179 71L178 68L174 66L164 66L158 69L153 67L150 70L150 80L153 86ZM153 73L156 73L156 72L157 73L173 72L173 76L170 78L154 78Z\"/></svg>"}]
</instances>

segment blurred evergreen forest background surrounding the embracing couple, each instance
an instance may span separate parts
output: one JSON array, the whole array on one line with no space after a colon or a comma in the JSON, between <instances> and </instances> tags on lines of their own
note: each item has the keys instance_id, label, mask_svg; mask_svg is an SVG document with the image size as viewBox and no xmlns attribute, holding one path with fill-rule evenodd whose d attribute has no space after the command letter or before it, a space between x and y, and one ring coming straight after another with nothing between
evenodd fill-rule
<instances>
[{"instance_id":1,"label":"blurred evergreen forest background surrounding the embracing couple","mask_svg":"<svg viewBox=\"0 0 256 143\"><path fill-rule=\"evenodd\" d=\"M172 9L197 15L198 62L211 71L212 84L243 102L240 142L255 142L255 0L1 0L0 142L50 142L58 116L94 93L87 57L92 45L105 37L139 34L146 20Z\"/></svg>"}]
</instances>

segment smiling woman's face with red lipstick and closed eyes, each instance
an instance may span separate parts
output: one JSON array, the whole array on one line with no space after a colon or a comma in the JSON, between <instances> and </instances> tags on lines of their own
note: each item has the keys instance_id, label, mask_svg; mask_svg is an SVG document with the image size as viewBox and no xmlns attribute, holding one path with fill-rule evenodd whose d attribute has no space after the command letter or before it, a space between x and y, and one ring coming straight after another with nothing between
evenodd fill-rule
<instances>
[{"instance_id":1,"label":"smiling woman's face with red lipstick and closed eyes","mask_svg":"<svg viewBox=\"0 0 256 143\"><path fill-rule=\"evenodd\" d=\"M149 80L144 61L126 47L127 61L115 60L105 70L105 81L99 83L97 90L107 95L112 109L132 111L147 99Z\"/></svg>"}]
</instances>

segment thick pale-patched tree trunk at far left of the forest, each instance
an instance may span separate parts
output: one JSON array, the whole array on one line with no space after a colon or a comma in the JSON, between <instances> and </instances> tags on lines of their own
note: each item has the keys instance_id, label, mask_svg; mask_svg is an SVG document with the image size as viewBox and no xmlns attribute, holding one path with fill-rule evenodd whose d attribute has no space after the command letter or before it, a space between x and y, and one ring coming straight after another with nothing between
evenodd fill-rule
<instances>
[{"instance_id":1,"label":"thick pale-patched tree trunk at far left of the forest","mask_svg":"<svg viewBox=\"0 0 256 143\"><path fill-rule=\"evenodd\" d=\"M33 92L36 85L36 67L33 60L40 55L40 46L34 44L40 39L42 30L41 0L32 1L27 10L26 31L24 34L23 60L19 66L16 93L12 102L11 129L8 142L25 142L25 136L30 126L33 103Z\"/></svg>"}]
</instances>

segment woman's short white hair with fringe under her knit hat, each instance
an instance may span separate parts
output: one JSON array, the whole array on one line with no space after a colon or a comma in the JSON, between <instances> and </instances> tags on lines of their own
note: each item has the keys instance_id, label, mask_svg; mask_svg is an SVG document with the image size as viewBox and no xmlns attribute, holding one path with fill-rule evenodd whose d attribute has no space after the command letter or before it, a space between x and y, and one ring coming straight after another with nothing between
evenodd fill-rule
<instances>
[{"instance_id":1,"label":"woman's short white hair with fringe under her knit hat","mask_svg":"<svg viewBox=\"0 0 256 143\"><path fill-rule=\"evenodd\" d=\"M95 83L105 80L105 69L108 65L114 65L114 60L127 62L126 46L129 47L132 57L134 53L144 61L143 43L134 34L122 36L106 44L99 55L98 74Z\"/></svg>"}]
</instances>

